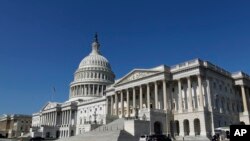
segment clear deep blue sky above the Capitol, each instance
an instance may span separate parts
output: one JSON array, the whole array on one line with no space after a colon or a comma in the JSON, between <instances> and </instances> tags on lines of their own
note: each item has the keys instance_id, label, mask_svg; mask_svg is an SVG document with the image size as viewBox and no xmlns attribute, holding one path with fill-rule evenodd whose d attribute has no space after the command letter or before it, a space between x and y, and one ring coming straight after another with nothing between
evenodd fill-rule
<instances>
[{"instance_id":1,"label":"clear deep blue sky above the Capitol","mask_svg":"<svg viewBox=\"0 0 250 141\"><path fill-rule=\"evenodd\" d=\"M68 99L99 33L117 78L194 58L250 73L250 2L1 0L0 114L31 114Z\"/></svg>"}]
</instances>

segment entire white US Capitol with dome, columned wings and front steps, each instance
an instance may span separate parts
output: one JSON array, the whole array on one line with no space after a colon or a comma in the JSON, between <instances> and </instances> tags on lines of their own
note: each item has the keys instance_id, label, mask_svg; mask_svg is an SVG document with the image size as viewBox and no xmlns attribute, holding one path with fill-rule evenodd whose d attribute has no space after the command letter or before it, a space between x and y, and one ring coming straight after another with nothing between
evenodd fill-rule
<instances>
[{"instance_id":1,"label":"entire white US Capitol with dome, columned wings and front steps","mask_svg":"<svg viewBox=\"0 0 250 141\"><path fill-rule=\"evenodd\" d=\"M230 73L200 59L134 69L115 80L96 35L91 53L74 73L69 99L48 102L34 113L31 135L70 140L119 130L132 137L208 140L217 127L250 124L249 91L246 73Z\"/></svg>"}]
</instances>

